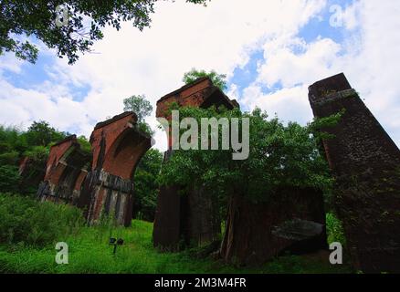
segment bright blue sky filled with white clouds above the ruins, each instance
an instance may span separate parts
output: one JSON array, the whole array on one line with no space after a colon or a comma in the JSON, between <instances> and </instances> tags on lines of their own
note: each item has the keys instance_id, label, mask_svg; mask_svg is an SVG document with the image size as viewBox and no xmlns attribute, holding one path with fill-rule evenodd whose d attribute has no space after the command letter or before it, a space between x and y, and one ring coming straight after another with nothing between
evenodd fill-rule
<instances>
[{"instance_id":1,"label":"bright blue sky filled with white clouds above the ruins","mask_svg":"<svg viewBox=\"0 0 400 292\"><path fill-rule=\"evenodd\" d=\"M227 75L227 94L243 110L305 124L308 86L344 72L400 145L399 16L398 0L160 1L151 28L107 27L95 53L73 66L40 43L35 65L1 56L0 123L25 129L47 120L89 137L121 113L122 99L145 94L155 110L184 72L202 68ZM165 149L163 134L155 138Z\"/></svg>"}]
</instances>

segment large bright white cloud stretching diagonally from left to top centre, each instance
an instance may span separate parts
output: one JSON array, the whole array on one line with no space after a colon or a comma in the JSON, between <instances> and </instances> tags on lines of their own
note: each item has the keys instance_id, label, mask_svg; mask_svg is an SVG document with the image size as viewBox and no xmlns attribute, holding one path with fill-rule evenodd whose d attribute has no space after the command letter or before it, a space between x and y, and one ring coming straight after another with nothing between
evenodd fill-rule
<instances>
[{"instance_id":1,"label":"large bright white cloud stretching diagonally from left to top centre","mask_svg":"<svg viewBox=\"0 0 400 292\"><path fill-rule=\"evenodd\" d=\"M234 68L244 66L249 53L265 39L296 35L324 5L326 0L258 0L251 5L217 0L207 7L184 0L160 1L150 29L140 32L128 23L118 32L106 28L104 39L94 47L96 54L80 57L72 67L58 59L55 67L47 68L51 84L45 83L35 93L18 92L21 99L29 100L18 103L28 114L17 119L45 119L60 129L75 124L89 135L94 120L121 112L122 99L132 94L146 94L155 108L157 99L182 85L181 78L190 68L216 69L232 76ZM84 84L90 86L88 95L82 102L73 101L68 87ZM5 95L2 99L7 106L17 104ZM149 121L155 125L153 117ZM160 144L157 147L164 148Z\"/></svg>"}]
</instances>

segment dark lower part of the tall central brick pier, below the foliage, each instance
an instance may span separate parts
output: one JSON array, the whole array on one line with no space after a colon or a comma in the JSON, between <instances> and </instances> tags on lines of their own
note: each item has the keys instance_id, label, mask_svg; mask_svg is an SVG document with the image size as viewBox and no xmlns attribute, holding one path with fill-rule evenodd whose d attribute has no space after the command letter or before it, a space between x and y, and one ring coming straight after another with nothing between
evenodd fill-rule
<instances>
[{"instance_id":1,"label":"dark lower part of the tall central brick pier, below the foliage","mask_svg":"<svg viewBox=\"0 0 400 292\"><path fill-rule=\"evenodd\" d=\"M169 158L170 151L164 159ZM153 224L153 244L177 251L180 244L200 246L218 240L221 222L216 203L201 188L182 195L178 186L162 186L157 198Z\"/></svg>"}]
</instances>

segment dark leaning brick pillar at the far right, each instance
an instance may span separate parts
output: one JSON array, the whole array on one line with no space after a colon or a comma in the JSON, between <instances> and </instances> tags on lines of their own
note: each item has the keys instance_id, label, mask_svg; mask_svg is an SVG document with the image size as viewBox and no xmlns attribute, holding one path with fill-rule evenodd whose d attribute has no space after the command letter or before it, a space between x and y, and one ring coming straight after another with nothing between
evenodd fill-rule
<instances>
[{"instance_id":1,"label":"dark leaning brick pillar at the far right","mask_svg":"<svg viewBox=\"0 0 400 292\"><path fill-rule=\"evenodd\" d=\"M343 74L309 89L316 117L345 110L323 141L335 204L356 268L400 272L400 151Z\"/></svg>"}]
</instances>

